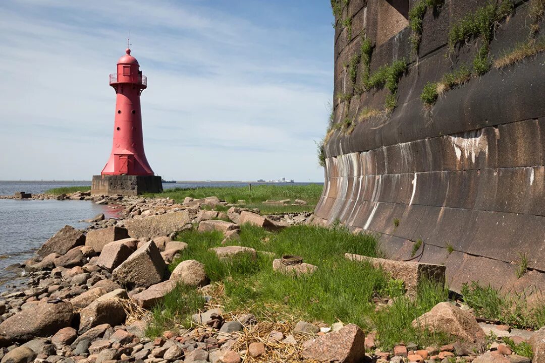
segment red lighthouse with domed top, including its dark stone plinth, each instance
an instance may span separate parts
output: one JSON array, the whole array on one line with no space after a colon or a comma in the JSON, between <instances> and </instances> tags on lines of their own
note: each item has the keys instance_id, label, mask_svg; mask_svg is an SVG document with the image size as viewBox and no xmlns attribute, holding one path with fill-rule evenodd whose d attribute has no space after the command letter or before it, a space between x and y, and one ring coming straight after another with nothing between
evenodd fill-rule
<instances>
[{"instance_id":1,"label":"red lighthouse with domed top, including its dark stone plinth","mask_svg":"<svg viewBox=\"0 0 545 363\"><path fill-rule=\"evenodd\" d=\"M135 195L162 190L161 177L154 176L144 153L140 94L147 88L147 78L131 50L127 48L125 53L117 61L117 72L110 75L117 97L113 146L101 175L93 176L93 194Z\"/></svg>"}]
</instances>

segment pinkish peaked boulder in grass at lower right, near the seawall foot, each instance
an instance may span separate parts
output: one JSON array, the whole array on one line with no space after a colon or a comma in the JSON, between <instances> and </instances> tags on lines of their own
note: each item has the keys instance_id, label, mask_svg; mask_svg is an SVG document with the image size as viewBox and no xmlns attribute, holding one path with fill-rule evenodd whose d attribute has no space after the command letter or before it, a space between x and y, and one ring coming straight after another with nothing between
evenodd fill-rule
<instances>
[{"instance_id":1,"label":"pinkish peaked boulder in grass at lower right, near the seawall foot","mask_svg":"<svg viewBox=\"0 0 545 363\"><path fill-rule=\"evenodd\" d=\"M481 350L486 334L469 311L450 303L439 303L432 310L414 319L413 327L441 331L458 339L465 347Z\"/></svg>"}]
</instances>

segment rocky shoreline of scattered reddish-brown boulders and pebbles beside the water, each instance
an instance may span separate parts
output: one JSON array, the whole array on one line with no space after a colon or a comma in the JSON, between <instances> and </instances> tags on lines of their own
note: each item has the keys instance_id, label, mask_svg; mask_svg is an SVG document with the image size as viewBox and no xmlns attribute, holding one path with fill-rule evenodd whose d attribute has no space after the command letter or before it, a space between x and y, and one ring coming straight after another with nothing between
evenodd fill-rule
<instances>
[{"instance_id":1,"label":"rocky shoreline of scattered reddish-brown boulders and pebbles beside the water","mask_svg":"<svg viewBox=\"0 0 545 363\"><path fill-rule=\"evenodd\" d=\"M86 220L85 230L65 226L18 267L28 280L0 294L2 363L529 363L527 356L510 348L510 342L531 346L533 361L545 361L545 330L534 333L477 323L469 308L460 304L440 303L413 322L415 327L425 324L431 331L445 331L453 344L418 349L414 343L399 342L392 351L383 352L376 348L373 332L365 335L349 322L257 321L251 314L222 311L210 303L213 286L208 285L202 263L186 260L172 273L167 269L187 248L186 243L173 241L177 232L198 226L198 231L221 231L224 241L233 241L241 224L279 230L310 222L311 213L261 216L258 210L229 205L215 196L186 198L183 203L87 193L54 198L112 205L119 209L118 218L99 214ZM213 210L216 206L228 209L217 212ZM234 258L256 251L226 246L215 248L215 253ZM295 274L312 273L315 268L277 266L283 273ZM180 283L202 293L208 302L205 309L193 315L191 327L180 326L149 339L145 331L150 308Z\"/></svg>"}]
</instances>

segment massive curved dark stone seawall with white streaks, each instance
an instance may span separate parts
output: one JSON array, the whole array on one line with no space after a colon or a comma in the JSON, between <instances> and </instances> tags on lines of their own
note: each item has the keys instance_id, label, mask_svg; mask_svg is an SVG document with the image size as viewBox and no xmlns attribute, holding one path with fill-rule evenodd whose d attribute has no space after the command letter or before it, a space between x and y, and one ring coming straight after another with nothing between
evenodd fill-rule
<instances>
[{"instance_id":1,"label":"massive curved dark stone seawall with white streaks","mask_svg":"<svg viewBox=\"0 0 545 363\"><path fill-rule=\"evenodd\" d=\"M492 66L423 104L428 82L473 64L482 40L471 38L453 52L449 29L487 2L445 1L437 11L427 9L417 52L409 26L384 40L392 26L380 23L383 3L350 0L337 16L337 127L325 141L315 221L381 233L393 259L411 259L422 240L416 256L445 264L455 291L471 280L518 291L545 288L545 54ZM494 26L491 61L529 38L530 5L513 2ZM538 26L535 36L542 36L543 22ZM371 75L395 60L407 62L393 111L383 110L389 90L358 91L366 65L354 67L352 60L364 39L373 46ZM366 117L370 109L380 112Z\"/></svg>"}]
</instances>

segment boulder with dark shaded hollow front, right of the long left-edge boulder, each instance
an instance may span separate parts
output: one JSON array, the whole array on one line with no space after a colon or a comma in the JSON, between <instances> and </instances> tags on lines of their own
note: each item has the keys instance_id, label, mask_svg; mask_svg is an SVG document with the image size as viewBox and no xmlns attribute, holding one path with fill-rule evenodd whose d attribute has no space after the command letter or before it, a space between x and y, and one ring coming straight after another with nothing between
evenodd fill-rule
<instances>
[{"instance_id":1,"label":"boulder with dark shaded hollow front, right of the long left-edge boulder","mask_svg":"<svg viewBox=\"0 0 545 363\"><path fill-rule=\"evenodd\" d=\"M127 293L123 289L114 290L102 295L93 303L80 311L80 328L78 333L85 333L87 330L101 324L112 326L123 324L126 313L122 299L127 299Z\"/></svg>"}]
</instances>

